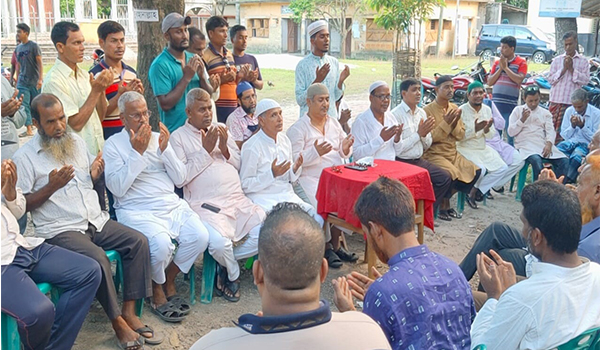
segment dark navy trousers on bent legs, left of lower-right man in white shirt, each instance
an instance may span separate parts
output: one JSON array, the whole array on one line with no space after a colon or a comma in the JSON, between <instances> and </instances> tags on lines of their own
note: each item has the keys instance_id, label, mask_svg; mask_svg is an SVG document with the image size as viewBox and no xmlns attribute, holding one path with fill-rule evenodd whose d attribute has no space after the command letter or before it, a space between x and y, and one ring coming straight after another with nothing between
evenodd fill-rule
<instances>
[{"instance_id":1,"label":"dark navy trousers on bent legs, left of lower-right man in white shirt","mask_svg":"<svg viewBox=\"0 0 600 350\"><path fill-rule=\"evenodd\" d=\"M485 252L489 256L490 249L493 249L503 260L513 264L517 275L525 276L526 246L527 242L519 230L501 222L494 222L477 237L459 266L467 280L470 280L477 271L477 254Z\"/></svg>"}]
</instances>

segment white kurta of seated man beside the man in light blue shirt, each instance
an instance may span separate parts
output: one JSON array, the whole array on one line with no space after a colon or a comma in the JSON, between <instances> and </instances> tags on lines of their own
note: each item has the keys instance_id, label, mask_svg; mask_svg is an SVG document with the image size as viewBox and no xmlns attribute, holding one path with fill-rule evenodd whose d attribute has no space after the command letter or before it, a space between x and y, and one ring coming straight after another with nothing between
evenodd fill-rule
<instances>
[{"instance_id":1,"label":"white kurta of seated man beside the man in light blue shirt","mask_svg":"<svg viewBox=\"0 0 600 350\"><path fill-rule=\"evenodd\" d=\"M514 137L515 148L519 150L521 157L527 159L532 154L541 156L546 142L551 142L552 154L548 159L565 158L566 156L554 146L556 131L552 123L552 114L538 106L523 123L521 117L525 108L527 105L515 107L508 124L508 134Z\"/></svg>"}]
</instances>

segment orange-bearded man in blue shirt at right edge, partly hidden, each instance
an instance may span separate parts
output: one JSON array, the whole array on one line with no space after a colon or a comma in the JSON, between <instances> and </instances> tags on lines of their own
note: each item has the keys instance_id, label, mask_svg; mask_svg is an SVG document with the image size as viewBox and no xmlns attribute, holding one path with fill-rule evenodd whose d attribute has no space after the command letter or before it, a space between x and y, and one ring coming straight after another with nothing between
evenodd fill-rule
<instances>
[{"instance_id":1,"label":"orange-bearded man in blue shirt at right edge, partly hidden","mask_svg":"<svg viewBox=\"0 0 600 350\"><path fill-rule=\"evenodd\" d=\"M540 180L544 179L559 181L552 170L546 169L540 174ZM586 164L579 174L577 196L583 222L577 254L600 263L600 150L595 150L586 157ZM477 254L493 249L503 260L513 264L517 275L524 277L527 275L526 256L529 254L526 247L527 241L521 230L495 222L481 232L460 263L460 268L470 280L477 271Z\"/></svg>"}]
</instances>

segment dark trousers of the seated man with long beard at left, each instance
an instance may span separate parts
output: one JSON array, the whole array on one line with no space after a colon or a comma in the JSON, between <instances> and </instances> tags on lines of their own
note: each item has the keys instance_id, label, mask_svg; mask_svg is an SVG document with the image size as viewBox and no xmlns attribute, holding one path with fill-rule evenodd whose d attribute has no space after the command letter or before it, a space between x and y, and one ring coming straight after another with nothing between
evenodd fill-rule
<instances>
[{"instance_id":1,"label":"dark trousers of the seated man with long beard at left","mask_svg":"<svg viewBox=\"0 0 600 350\"><path fill-rule=\"evenodd\" d=\"M124 301L152 296L150 248L146 236L140 232L108 220L102 231L90 224L84 234L62 232L46 242L89 256L100 264L102 282L96 297L111 320L121 316L121 309L105 250L116 250L121 255Z\"/></svg>"}]
</instances>

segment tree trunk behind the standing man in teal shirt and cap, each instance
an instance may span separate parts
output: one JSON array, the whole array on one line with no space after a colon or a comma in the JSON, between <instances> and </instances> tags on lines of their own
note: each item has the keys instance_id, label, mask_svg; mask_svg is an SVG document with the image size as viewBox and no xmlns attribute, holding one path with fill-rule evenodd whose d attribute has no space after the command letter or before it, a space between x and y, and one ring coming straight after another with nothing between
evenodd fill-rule
<instances>
[{"instance_id":1,"label":"tree trunk behind the standing man in teal shirt and cap","mask_svg":"<svg viewBox=\"0 0 600 350\"><path fill-rule=\"evenodd\" d=\"M166 45L163 33L160 29L163 18L171 12L184 14L184 0L133 0L136 9L158 9L159 22L138 22L138 59L137 76L144 85L144 97L148 103L148 109L152 112L150 125L154 131L158 131L160 114L158 113L158 101L154 96L148 71L152 61L158 56Z\"/></svg>"}]
</instances>

